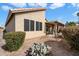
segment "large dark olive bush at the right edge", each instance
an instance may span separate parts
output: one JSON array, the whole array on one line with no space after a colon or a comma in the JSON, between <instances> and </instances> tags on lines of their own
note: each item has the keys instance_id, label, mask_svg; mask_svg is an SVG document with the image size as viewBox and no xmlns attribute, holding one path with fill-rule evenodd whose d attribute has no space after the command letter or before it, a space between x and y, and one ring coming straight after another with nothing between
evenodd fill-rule
<instances>
[{"instance_id":1,"label":"large dark olive bush at the right edge","mask_svg":"<svg viewBox=\"0 0 79 59\"><path fill-rule=\"evenodd\" d=\"M69 26L63 29L62 34L72 48L79 50L79 28Z\"/></svg>"}]
</instances>

